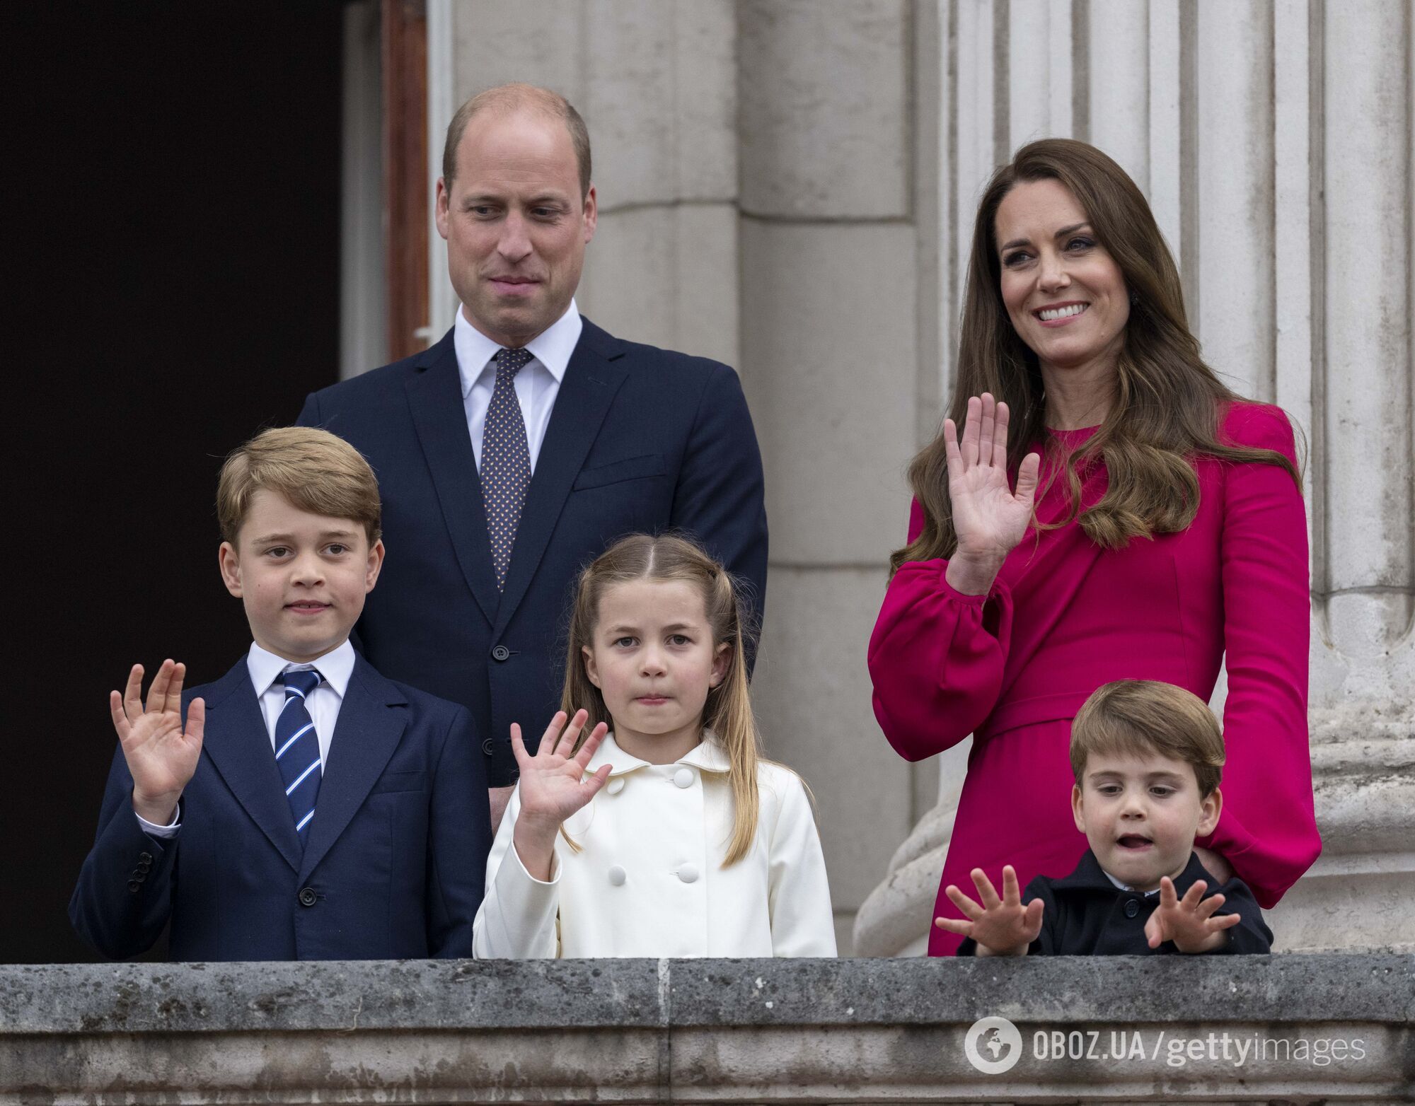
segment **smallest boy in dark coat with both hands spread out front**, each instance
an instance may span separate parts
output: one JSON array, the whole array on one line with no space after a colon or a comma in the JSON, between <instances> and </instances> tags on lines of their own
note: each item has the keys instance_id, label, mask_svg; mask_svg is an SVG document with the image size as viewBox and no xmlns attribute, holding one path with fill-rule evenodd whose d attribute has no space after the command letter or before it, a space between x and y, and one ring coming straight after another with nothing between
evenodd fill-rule
<instances>
[{"instance_id":1,"label":"smallest boy in dark coat with both hands spread out front","mask_svg":"<svg viewBox=\"0 0 1415 1106\"><path fill-rule=\"evenodd\" d=\"M947 888L968 921L934 925L965 938L959 956L1268 952L1247 884L1220 884L1194 854L1218 822L1223 764L1223 733L1196 696L1153 680L1105 685L1071 726L1071 810L1091 846L1075 871L1039 875L1019 895L1009 864L999 897L974 868L981 902Z\"/></svg>"}]
</instances>

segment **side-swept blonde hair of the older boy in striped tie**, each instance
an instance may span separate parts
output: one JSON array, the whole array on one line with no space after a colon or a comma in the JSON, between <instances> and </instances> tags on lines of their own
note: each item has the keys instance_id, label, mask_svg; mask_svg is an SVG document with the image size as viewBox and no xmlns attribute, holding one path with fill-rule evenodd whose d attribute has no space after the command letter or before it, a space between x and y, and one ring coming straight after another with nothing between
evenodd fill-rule
<instances>
[{"instance_id":1,"label":"side-swept blonde hair of the older boy in striped tie","mask_svg":"<svg viewBox=\"0 0 1415 1106\"><path fill-rule=\"evenodd\" d=\"M250 496L277 492L300 511L358 522L372 545L382 533L378 478L364 455L328 430L283 426L235 448L216 481L221 537L235 545Z\"/></svg>"}]
</instances>

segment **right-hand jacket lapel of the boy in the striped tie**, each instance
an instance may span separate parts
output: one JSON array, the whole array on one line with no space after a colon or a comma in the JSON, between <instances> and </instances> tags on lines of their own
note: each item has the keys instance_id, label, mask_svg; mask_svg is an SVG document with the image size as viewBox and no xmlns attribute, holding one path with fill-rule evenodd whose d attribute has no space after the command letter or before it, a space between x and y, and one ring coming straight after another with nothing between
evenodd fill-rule
<instances>
[{"instance_id":1,"label":"right-hand jacket lapel of the boy in the striped tie","mask_svg":"<svg viewBox=\"0 0 1415 1106\"><path fill-rule=\"evenodd\" d=\"M330 761L320 781L310 840L297 866L301 880L330 851L383 774L408 726L408 711L400 710L406 704L408 696L393 683L379 676L362 658L355 659L354 675L340 704L340 720L330 738ZM293 827L289 812L286 817Z\"/></svg>"}]
</instances>

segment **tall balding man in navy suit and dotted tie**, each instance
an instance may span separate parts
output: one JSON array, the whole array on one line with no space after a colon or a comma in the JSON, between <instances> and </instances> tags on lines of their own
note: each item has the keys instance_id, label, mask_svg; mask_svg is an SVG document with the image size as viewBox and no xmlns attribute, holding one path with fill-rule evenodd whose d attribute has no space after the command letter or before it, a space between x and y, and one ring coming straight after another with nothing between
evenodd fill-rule
<instances>
[{"instance_id":1,"label":"tall balding man in navy suit and dotted tie","mask_svg":"<svg viewBox=\"0 0 1415 1106\"><path fill-rule=\"evenodd\" d=\"M621 341L576 310L596 194L563 98L507 85L463 105L436 215L456 325L311 395L300 423L378 472L393 554L357 639L383 672L471 710L495 825L515 782L511 723L539 733L559 707L572 584L610 542L689 533L760 618L761 455L729 366Z\"/></svg>"}]
</instances>

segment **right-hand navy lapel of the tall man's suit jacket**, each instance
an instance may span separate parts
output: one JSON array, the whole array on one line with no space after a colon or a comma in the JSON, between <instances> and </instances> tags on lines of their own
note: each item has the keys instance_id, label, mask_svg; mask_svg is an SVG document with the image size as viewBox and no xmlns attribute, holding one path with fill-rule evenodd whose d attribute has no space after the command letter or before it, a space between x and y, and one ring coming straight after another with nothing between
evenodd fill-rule
<instances>
[{"instance_id":1,"label":"right-hand navy lapel of the tall man's suit jacket","mask_svg":"<svg viewBox=\"0 0 1415 1106\"><path fill-rule=\"evenodd\" d=\"M499 635L515 614L550 540L570 487L594 444L614 393L627 372L614 362L623 356L623 344L589 320L574 347L560 380L560 390L550 412L550 424L541 443L535 475L526 489L526 502L516 525L516 543L511 550L507 588L497 608L492 636ZM483 526L483 545L487 545ZM491 563L488 547L487 563ZM492 584L492 588L495 584Z\"/></svg>"}]
</instances>

